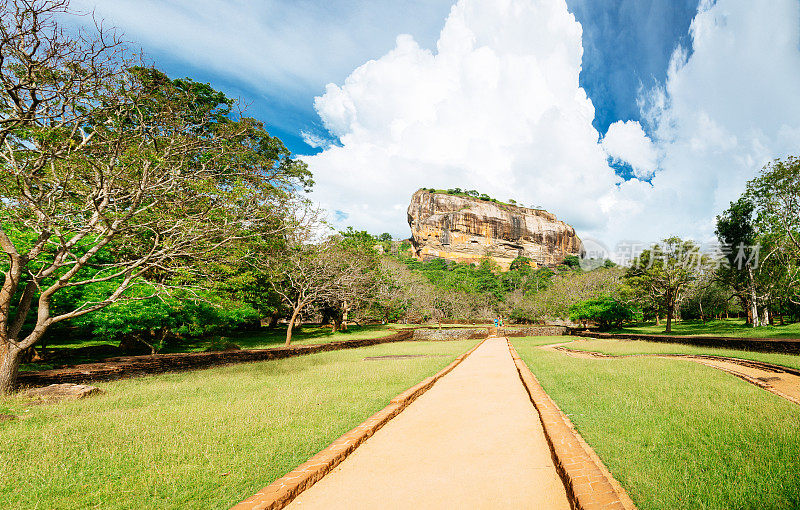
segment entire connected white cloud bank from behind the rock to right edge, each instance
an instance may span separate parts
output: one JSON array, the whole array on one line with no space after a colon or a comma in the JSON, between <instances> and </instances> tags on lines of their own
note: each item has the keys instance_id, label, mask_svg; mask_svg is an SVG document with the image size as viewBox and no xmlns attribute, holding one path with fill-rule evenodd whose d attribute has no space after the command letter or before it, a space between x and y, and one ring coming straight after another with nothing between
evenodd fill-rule
<instances>
[{"instance_id":1,"label":"entire connected white cloud bank from behind the rock to right edge","mask_svg":"<svg viewBox=\"0 0 800 510\"><path fill-rule=\"evenodd\" d=\"M338 139L306 157L314 198L353 225L408 235L419 187L539 204L613 245L713 235L747 179L800 148L800 3L704 1L636 121L603 139L579 86L581 26L564 0L460 0L435 51L395 48L315 102ZM623 181L608 164L626 162ZM342 218L339 215L339 218Z\"/></svg>"}]
</instances>

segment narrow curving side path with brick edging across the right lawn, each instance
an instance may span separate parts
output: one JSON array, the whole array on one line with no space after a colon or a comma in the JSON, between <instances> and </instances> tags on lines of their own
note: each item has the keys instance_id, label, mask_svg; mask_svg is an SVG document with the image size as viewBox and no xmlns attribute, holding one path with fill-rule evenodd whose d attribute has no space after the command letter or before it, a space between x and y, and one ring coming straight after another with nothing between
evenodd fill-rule
<instances>
[{"instance_id":1,"label":"narrow curving side path with brick edging across the right lawn","mask_svg":"<svg viewBox=\"0 0 800 510\"><path fill-rule=\"evenodd\" d=\"M581 351L567 347L572 342L562 344L550 344L542 346L543 349L550 349L563 352L569 356L577 358L592 359L619 359L619 358L669 358L683 359L706 365L727 372L731 375L743 379L751 384L772 392L795 404L800 404L800 371L738 358L727 358L723 356L711 355L691 355L691 354L627 354L610 355L601 352Z\"/></svg>"}]
</instances>

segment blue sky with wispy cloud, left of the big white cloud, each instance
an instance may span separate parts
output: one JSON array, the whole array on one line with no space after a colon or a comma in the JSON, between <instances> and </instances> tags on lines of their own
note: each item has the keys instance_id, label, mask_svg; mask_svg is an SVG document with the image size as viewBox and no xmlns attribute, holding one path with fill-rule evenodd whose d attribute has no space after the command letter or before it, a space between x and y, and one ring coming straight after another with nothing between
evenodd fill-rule
<instances>
[{"instance_id":1,"label":"blue sky with wispy cloud, left of the big white cloud","mask_svg":"<svg viewBox=\"0 0 800 510\"><path fill-rule=\"evenodd\" d=\"M389 51L400 33L412 34L421 44L433 47L452 3L451 0L228 3L75 0L73 6L84 12L95 11L108 24L118 27L127 40L141 47L153 64L170 76L188 76L211 83L231 97L241 99L248 114L264 121L271 134L281 138L292 152L313 154L319 149L307 145L300 132L324 132L314 110L314 97L324 92L325 85L341 82L364 61ZM268 67L263 79L254 81L246 76L240 60L233 60L226 68L209 65L205 58L205 50L216 46L222 54L215 57L224 62L225 51L236 44L231 34L237 26L235 21L219 26L214 15L231 17L237 11L262 19L262 23L252 26L254 32L258 31L250 34L256 41L268 38L275 42L272 54L266 50L259 55L262 58L251 62L254 67ZM163 37L164 32L170 34ZM255 46L252 50L258 52L259 43L252 44ZM307 58L312 53L317 58Z\"/></svg>"}]
</instances>

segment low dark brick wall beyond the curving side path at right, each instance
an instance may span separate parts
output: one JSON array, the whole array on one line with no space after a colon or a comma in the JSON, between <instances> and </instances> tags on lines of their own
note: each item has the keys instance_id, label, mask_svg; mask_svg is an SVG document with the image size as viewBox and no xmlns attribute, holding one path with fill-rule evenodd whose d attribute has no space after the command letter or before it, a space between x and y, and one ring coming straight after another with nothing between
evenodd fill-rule
<instances>
[{"instance_id":1,"label":"low dark brick wall beyond the curving side path at right","mask_svg":"<svg viewBox=\"0 0 800 510\"><path fill-rule=\"evenodd\" d=\"M586 338L612 338L615 340L642 340L670 344L697 345L701 347L719 347L723 349L740 349L756 352L783 352L800 354L800 339L797 338L736 338L726 336L673 336L673 335L641 335L636 333L598 333L593 331L570 330L570 335Z\"/></svg>"}]
</instances>

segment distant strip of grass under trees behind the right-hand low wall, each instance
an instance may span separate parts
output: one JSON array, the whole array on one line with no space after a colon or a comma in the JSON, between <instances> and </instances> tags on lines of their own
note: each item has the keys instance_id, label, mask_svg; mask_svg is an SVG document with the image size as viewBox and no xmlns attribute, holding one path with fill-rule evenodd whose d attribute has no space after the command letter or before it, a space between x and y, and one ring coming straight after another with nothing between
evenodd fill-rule
<instances>
[{"instance_id":1,"label":"distant strip of grass under trees behind the right-hand low wall","mask_svg":"<svg viewBox=\"0 0 800 510\"><path fill-rule=\"evenodd\" d=\"M666 325L660 326L649 322L627 326L611 331L612 333L639 333L644 335L707 335L754 338L800 338L800 322L783 326L748 326L744 319L723 319L703 322L699 320L679 321L672 323L672 333L665 333Z\"/></svg>"}]
</instances>

